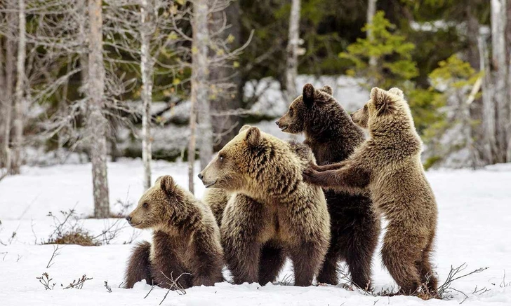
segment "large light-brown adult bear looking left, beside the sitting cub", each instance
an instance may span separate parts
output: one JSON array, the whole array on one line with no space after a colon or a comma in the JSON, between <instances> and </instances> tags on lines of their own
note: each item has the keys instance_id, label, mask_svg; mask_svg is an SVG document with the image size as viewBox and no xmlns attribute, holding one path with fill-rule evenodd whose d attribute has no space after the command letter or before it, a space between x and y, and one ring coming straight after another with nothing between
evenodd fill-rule
<instances>
[{"instance_id":1,"label":"large light-brown adult bear looking left, beside the sitting cub","mask_svg":"<svg viewBox=\"0 0 511 306\"><path fill-rule=\"evenodd\" d=\"M274 281L286 256L295 285L312 284L328 249L330 221L321 188L303 182L308 162L291 144L244 126L199 174L206 187L233 194L220 233L235 284Z\"/></svg>"}]
</instances>

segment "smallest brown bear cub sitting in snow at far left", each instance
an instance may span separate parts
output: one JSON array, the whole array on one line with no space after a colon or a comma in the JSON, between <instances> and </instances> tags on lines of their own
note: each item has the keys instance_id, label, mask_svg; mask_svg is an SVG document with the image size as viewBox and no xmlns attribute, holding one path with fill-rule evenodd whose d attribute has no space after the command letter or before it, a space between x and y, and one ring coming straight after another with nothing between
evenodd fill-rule
<instances>
[{"instance_id":1,"label":"smallest brown bear cub sitting in snow at far left","mask_svg":"<svg viewBox=\"0 0 511 306\"><path fill-rule=\"evenodd\" d=\"M223 281L223 250L213 213L171 176L160 176L126 220L133 228L154 230L152 244L133 249L126 288L142 279L164 288L172 287L171 279L183 288Z\"/></svg>"}]
</instances>

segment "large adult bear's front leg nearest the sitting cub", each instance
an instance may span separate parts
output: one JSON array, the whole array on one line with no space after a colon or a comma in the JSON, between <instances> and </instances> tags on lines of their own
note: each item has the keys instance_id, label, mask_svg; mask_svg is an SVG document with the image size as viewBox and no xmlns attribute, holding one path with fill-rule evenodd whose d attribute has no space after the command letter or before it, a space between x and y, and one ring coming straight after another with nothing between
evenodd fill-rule
<instances>
[{"instance_id":1,"label":"large adult bear's front leg nearest the sitting cub","mask_svg":"<svg viewBox=\"0 0 511 306\"><path fill-rule=\"evenodd\" d=\"M263 204L238 194L225 208L221 242L224 258L234 284L255 283L259 280L261 243L259 236L265 228Z\"/></svg>"}]
</instances>

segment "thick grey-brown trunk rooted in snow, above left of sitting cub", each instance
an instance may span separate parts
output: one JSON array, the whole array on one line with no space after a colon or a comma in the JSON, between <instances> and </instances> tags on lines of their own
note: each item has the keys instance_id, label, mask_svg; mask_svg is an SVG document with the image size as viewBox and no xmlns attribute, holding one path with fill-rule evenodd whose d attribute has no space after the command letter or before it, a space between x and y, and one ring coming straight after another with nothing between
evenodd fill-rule
<instances>
[{"instance_id":1,"label":"thick grey-brown trunk rooted in snow, above left of sitting cub","mask_svg":"<svg viewBox=\"0 0 511 306\"><path fill-rule=\"evenodd\" d=\"M88 1L88 137L91 139L91 161L94 193L94 217L110 216L107 180L107 119L103 115L105 67L102 46L102 1Z\"/></svg>"}]
</instances>

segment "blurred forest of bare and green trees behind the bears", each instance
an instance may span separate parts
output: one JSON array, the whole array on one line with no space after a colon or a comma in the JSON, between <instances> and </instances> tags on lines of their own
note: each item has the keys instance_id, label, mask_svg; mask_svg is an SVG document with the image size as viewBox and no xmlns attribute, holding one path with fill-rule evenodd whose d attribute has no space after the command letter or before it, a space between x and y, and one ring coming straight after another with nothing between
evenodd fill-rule
<instances>
[{"instance_id":1,"label":"blurred forest of bare and green trees behind the bears","mask_svg":"<svg viewBox=\"0 0 511 306\"><path fill-rule=\"evenodd\" d=\"M149 186L153 158L204 165L244 123L270 128L300 80L402 88L427 167L510 162L508 16L511 0L4 0L0 177L140 156Z\"/></svg>"}]
</instances>

